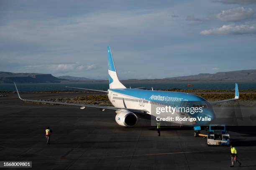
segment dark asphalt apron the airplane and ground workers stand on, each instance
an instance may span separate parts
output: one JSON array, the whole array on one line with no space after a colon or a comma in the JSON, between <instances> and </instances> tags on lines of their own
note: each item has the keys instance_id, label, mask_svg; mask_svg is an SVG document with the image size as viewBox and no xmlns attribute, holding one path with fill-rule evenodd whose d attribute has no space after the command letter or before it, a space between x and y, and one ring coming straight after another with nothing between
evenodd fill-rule
<instances>
[{"instance_id":1,"label":"dark asphalt apron the airplane and ground workers stand on","mask_svg":"<svg viewBox=\"0 0 256 170\"><path fill-rule=\"evenodd\" d=\"M29 99L79 95L86 94L22 94ZM51 145L44 136L47 126L53 130ZM239 169L255 170L256 128L229 130L242 163ZM189 127L162 127L158 137L150 120L121 127L111 110L36 105L15 94L0 97L0 161L32 161L36 170L230 169L230 148L207 147L193 132Z\"/></svg>"}]
</instances>

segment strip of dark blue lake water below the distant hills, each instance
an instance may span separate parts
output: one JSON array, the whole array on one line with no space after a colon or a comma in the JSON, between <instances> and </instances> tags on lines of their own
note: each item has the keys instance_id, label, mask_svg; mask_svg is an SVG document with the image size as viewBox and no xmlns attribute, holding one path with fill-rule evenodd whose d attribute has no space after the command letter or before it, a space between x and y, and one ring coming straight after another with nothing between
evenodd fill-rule
<instances>
[{"instance_id":1,"label":"strip of dark blue lake water below the distant hills","mask_svg":"<svg viewBox=\"0 0 256 170\"><path fill-rule=\"evenodd\" d=\"M187 86L193 84L194 86ZM170 82L170 83L124 83L129 88L153 87L154 89L210 89L210 90L233 90L235 82ZM97 90L107 90L108 83L39 83L39 84L17 84L20 91L52 91L52 90L72 90L65 86L82 87ZM238 82L241 90L256 89L256 82ZM0 84L0 91L15 91L13 84Z\"/></svg>"}]
</instances>

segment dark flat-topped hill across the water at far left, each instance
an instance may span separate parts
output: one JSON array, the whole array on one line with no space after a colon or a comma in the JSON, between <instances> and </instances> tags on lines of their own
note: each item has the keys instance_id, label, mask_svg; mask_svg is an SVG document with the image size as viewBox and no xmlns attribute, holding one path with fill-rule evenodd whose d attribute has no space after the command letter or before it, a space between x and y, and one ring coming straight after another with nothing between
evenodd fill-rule
<instances>
[{"instance_id":1,"label":"dark flat-topped hill across the water at far left","mask_svg":"<svg viewBox=\"0 0 256 170\"><path fill-rule=\"evenodd\" d=\"M0 83L58 83L59 79L51 74L0 72Z\"/></svg>"}]
</instances>

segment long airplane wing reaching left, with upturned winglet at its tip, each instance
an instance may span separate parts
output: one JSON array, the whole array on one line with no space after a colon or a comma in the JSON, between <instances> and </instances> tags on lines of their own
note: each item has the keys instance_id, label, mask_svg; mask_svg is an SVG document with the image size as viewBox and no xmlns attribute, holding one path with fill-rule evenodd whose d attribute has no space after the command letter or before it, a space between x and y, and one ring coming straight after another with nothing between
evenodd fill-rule
<instances>
[{"instance_id":1,"label":"long airplane wing reaching left, with upturned winglet at its tip","mask_svg":"<svg viewBox=\"0 0 256 170\"><path fill-rule=\"evenodd\" d=\"M138 113L146 113L147 110L136 110L136 109L128 109L128 108L122 108L122 107L111 107L111 106L99 106L99 105L84 105L84 104L77 104L77 103L67 103L67 102L52 102L47 100L30 100L30 99L23 99L20 97L20 94L18 92L18 88L14 82L18 97L20 100L27 101L27 102L42 102L42 103L52 103L52 104L58 104L58 105L72 105L72 106L79 106L81 109L84 109L85 107L92 107L92 108L100 108L100 109L111 109L111 110L128 110L130 112L138 112Z\"/></svg>"}]
</instances>

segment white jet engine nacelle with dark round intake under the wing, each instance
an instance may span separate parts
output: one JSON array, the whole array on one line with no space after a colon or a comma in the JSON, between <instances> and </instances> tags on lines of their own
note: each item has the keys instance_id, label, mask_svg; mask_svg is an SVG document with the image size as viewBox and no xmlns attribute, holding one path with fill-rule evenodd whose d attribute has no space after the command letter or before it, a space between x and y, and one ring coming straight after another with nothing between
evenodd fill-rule
<instances>
[{"instance_id":1,"label":"white jet engine nacelle with dark round intake under the wing","mask_svg":"<svg viewBox=\"0 0 256 170\"><path fill-rule=\"evenodd\" d=\"M115 116L115 121L120 126L133 127L137 123L137 116L133 112L127 110L117 110Z\"/></svg>"}]
</instances>

